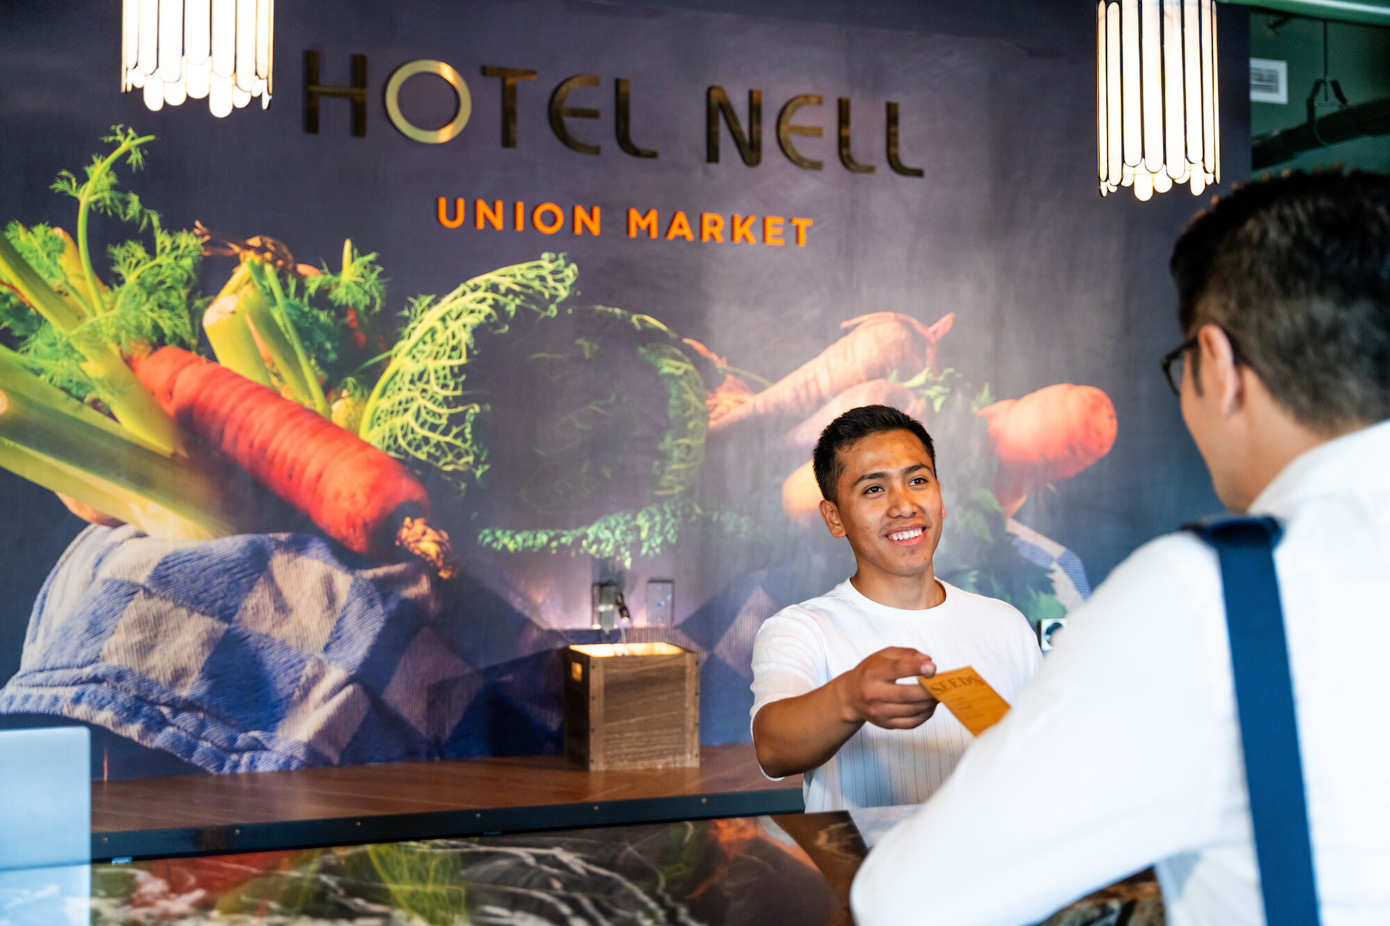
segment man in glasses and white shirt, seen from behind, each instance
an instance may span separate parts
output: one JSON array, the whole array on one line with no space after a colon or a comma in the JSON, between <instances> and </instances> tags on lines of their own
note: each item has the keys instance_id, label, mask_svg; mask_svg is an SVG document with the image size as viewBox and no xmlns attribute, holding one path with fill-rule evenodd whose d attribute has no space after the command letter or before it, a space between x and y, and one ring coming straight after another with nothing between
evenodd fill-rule
<instances>
[{"instance_id":1,"label":"man in glasses and white shirt, seen from behind","mask_svg":"<svg viewBox=\"0 0 1390 926\"><path fill-rule=\"evenodd\" d=\"M1283 527L1322 923L1390 923L1390 178L1244 186L1187 228L1172 270L1186 338L1162 367L1183 420L1222 502ZM1122 563L876 845L859 926L1036 922L1150 865L1169 923L1264 922L1222 591L1191 534Z\"/></svg>"}]
</instances>

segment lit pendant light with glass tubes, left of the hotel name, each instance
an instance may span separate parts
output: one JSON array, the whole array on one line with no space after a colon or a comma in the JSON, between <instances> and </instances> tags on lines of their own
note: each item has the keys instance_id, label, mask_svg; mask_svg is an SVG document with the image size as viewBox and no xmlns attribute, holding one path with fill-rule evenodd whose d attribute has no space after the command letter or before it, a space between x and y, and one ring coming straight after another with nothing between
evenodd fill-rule
<instances>
[{"instance_id":1,"label":"lit pendant light with glass tubes, left of the hotel name","mask_svg":"<svg viewBox=\"0 0 1390 926\"><path fill-rule=\"evenodd\" d=\"M121 90L152 110L207 97L227 115L270 106L275 0L124 0Z\"/></svg>"}]
</instances>

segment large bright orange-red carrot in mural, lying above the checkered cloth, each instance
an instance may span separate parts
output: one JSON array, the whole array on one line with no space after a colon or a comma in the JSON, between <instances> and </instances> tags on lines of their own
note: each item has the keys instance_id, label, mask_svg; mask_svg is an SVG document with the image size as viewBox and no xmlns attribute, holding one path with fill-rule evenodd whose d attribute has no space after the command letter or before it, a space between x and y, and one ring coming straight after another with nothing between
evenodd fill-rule
<instances>
[{"instance_id":1,"label":"large bright orange-red carrot in mural, lying above the checkered cloth","mask_svg":"<svg viewBox=\"0 0 1390 926\"><path fill-rule=\"evenodd\" d=\"M174 420L213 444L329 537L359 553L404 546L449 577L448 537L424 523L430 499L399 460L274 389L182 348L131 367Z\"/></svg>"}]
</instances>

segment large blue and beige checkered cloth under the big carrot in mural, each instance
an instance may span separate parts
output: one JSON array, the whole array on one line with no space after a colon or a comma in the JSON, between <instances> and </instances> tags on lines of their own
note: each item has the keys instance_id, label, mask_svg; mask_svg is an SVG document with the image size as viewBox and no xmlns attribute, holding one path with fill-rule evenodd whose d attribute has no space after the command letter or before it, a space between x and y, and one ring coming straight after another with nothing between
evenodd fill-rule
<instances>
[{"instance_id":1,"label":"large blue and beige checkered cloth under the big carrot in mural","mask_svg":"<svg viewBox=\"0 0 1390 926\"><path fill-rule=\"evenodd\" d=\"M208 772L428 759L475 674L430 577L306 534L79 535L35 602L0 713L106 727Z\"/></svg>"}]
</instances>

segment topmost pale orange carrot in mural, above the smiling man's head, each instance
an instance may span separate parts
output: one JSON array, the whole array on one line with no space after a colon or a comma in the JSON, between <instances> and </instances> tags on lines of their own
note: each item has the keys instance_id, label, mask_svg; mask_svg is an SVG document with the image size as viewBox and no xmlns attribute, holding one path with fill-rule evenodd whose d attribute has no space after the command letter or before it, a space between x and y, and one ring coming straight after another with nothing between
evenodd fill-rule
<instances>
[{"instance_id":1,"label":"topmost pale orange carrot in mural, above the smiling man's head","mask_svg":"<svg viewBox=\"0 0 1390 926\"><path fill-rule=\"evenodd\" d=\"M937 342L951 331L955 314L924 325L898 311L876 311L841 324L849 334L826 348L727 414L709 423L717 432L759 417L805 416L853 385L888 377L912 375L930 367Z\"/></svg>"}]
</instances>

